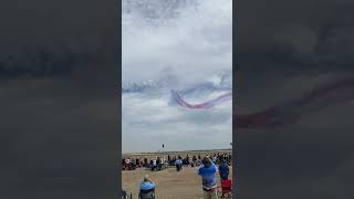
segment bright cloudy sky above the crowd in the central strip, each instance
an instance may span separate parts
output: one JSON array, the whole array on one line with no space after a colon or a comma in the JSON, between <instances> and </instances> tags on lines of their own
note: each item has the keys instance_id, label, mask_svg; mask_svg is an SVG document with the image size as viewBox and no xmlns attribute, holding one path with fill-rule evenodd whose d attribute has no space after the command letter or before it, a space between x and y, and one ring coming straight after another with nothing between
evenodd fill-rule
<instances>
[{"instance_id":1,"label":"bright cloudy sky above the crowd in the central strip","mask_svg":"<svg viewBox=\"0 0 354 199\"><path fill-rule=\"evenodd\" d=\"M198 88L191 103L232 91L232 1L122 6L123 153L230 147L231 102L187 109L170 91Z\"/></svg>"}]
</instances>

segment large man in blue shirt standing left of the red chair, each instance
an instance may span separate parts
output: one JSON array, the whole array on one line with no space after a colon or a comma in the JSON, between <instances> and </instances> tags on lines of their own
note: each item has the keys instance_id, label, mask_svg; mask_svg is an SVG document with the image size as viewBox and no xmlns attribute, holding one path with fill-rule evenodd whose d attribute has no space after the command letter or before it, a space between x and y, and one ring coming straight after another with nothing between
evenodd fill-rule
<instances>
[{"instance_id":1,"label":"large man in blue shirt standing left of the red chair","mask_svg":"<svg viewBox=\"0 0 354 199\"><path fill-rule=\"evenodd\" d=\"M217 199L217 178L216 172L218 171L215 164L209 157L202 159L202 166L198 169L198 175L201 176L204 199Z\"/></svg>"}]
</instances>

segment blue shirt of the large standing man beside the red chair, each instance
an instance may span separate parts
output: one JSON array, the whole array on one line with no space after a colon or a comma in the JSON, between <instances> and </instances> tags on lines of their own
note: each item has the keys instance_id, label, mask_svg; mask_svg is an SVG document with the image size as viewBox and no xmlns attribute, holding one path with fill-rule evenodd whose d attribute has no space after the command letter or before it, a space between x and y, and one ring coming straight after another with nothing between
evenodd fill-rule
<instances>
[{"instance_id":1,"label":"blue shirt of the large standing man beside the red chair","mask_svg":"<svg viewBox=\"0 0 354 199\"><path fill-rule=\"evenodd\" d=\"M215 188L217 186L216 172L218 168L212 164L209 167L201 166L198 169L198 175L201 176L202 187L207 189Z\"/></svg>"}]
</instances>

